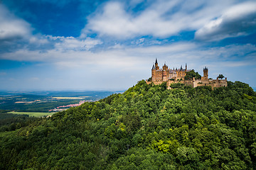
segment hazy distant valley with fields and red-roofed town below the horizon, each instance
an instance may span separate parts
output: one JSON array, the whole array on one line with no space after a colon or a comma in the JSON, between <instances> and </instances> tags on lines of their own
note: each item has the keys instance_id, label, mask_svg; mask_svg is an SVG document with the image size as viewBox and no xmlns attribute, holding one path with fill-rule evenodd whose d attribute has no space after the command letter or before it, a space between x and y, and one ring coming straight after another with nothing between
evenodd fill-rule
<instances>
[{"instance_id":1,"label":"hazy distant valley with fields and red-roofed town below the horizon","mask_svg":"<svg viewBox=\"0 0 256 170\"><path fill-rule=\"evenodd\" d=\"M122 91L0 91L0 110L56 112Z\"/></svg>"}]
</instances>

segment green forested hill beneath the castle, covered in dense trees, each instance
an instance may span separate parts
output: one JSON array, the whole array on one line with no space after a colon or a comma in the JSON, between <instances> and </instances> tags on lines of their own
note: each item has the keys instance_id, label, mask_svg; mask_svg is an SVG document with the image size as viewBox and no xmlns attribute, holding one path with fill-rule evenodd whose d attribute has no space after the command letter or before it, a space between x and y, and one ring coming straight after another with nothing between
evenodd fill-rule
<instances>
[{"instance_id":1,"label":"green forested hill beneath the castle, covered in dense trees","mask_svg":"<svg viewBox=\"0 0 256 170\"><path fill-rule=\"evenodd\" d=\"M0 169L256 169L256 94L145 81L0 133Z\"/></svg>"}]
</instances>

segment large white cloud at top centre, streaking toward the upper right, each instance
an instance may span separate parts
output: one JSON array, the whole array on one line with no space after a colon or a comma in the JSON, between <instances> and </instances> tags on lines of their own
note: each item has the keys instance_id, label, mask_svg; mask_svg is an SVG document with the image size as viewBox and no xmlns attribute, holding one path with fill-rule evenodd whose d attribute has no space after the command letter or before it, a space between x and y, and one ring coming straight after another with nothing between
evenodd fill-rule
<instances>
[{"instance_id":1,"label":"large white cloud at top centre, streaking toward the upper right","mask_svg":"<svg viewBox=\"0 0 256 170\"><path fill-rule=\"evenodd\" d=\"M222 4L221 6L219 4ZM124 4L107 3L88 18L82 35L98 33L117 39L142 35L166 38L182 30L197 30L221 15L231 1L154 1L144 11L127 11Z\"/></svg>"}]
</instances>

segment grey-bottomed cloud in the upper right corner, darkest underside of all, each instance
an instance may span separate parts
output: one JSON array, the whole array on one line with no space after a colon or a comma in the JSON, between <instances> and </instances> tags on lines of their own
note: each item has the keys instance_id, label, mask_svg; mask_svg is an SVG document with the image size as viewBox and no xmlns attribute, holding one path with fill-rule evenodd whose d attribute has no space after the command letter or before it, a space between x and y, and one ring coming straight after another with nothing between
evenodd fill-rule
<instances>
[{"instance_id":1,"label":"grey-bottomed cloud in the upper right corner, darkest underside of all","mask_svg":"<svg viewBox=\"0 0 256 170\"><path fill-rule=\"evenodd\" d=\"M220 17L196 31L196 39L222 40L248 35L256 30L256 2L245 2L228 8Z\"/></svg>"}]
</instances>

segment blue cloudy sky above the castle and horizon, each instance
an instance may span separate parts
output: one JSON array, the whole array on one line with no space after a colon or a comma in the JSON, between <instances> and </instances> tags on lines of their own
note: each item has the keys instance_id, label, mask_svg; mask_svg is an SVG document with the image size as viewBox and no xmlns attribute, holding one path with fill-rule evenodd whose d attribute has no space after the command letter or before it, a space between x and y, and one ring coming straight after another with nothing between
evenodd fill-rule
<instances>
[{"instance_id":1,"label":"blue cloudy sky above the castle and horizon","mask_svg":"<svg viewBox=\"0 0 256 170\"><path fill-rule=\"evenodd\" d=\"M125 90L156 58L256 87L256 1L0 0L0 90Z\"/></svg>"}]
</instances>

